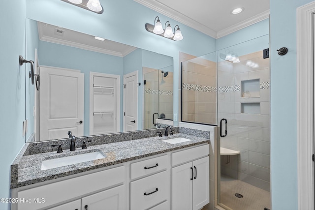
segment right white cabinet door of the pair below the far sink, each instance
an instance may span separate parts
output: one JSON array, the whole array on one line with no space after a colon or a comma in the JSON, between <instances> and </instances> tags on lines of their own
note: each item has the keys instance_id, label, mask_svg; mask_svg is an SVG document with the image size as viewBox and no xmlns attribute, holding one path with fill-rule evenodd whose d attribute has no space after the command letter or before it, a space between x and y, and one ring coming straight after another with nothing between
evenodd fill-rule
<instances>
[{"instance_id":1,"label":"right white cabinet door of the pair below the far sink","mask_svg":"<svg viewBox=\"0 0 315 210\"><path fill-rule=\"evenodd\" d=\"M192 165L192 209L199 210L210 202L209 156L193 161Z\"/></svg>"}]
</instances>

